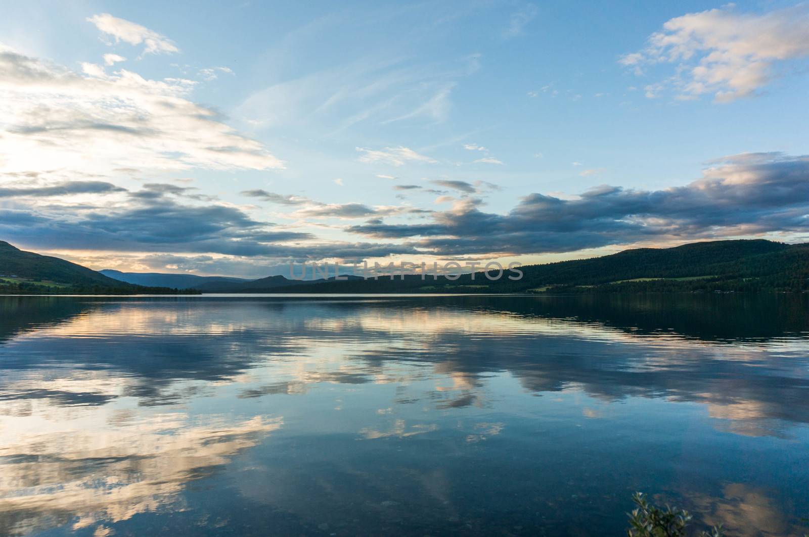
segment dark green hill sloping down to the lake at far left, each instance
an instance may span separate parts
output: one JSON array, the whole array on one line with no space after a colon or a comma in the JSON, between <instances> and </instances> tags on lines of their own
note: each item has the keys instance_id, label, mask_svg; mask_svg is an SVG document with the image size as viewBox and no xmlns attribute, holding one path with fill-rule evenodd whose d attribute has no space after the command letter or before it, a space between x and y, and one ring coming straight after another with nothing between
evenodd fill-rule
<instances>
[{"instance_id":1,"label":"dark green hill sloping down to the lake at far left","mask_svg":"<svg viewBox=\"0 0 809 537\"><path fill-rule=\"evenodd\" d=\"M0 294L163 294L166 287L132 285L58 257L24 252L0 241Z\"/></svg>"}]
</instances>

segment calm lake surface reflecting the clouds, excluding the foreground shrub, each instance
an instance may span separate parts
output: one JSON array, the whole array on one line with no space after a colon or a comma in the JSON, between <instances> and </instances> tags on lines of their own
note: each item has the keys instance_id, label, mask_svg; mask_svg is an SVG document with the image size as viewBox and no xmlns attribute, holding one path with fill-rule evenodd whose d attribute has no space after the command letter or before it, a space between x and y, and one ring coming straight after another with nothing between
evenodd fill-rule
<instances>
[{"instance_id":1,"label":"calm lake surface reflecting the clouds, excluding the foreground shrub","mask_svg":"<svg viewBox=\"0 0 809 537\"><path fill-rule=\"evenodd\" d=\"M809 296L0 297L0 535L809 532Z\"/></svg>"}]
</instances>

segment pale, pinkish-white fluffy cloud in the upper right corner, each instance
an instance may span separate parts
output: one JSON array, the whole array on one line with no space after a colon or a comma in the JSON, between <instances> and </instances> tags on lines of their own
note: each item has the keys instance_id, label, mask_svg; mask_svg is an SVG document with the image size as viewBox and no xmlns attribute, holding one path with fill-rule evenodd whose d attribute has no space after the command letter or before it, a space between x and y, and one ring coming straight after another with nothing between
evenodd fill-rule
<instances>
[{"instance_id":1,"label":"pale, pinkish-white fluffy cloud in the upper right corner","mask_svg":"<svg viewBox=\"0 0 809 537\"><path fill-rule=\"evenodd\" d=\"M646 48L619 63L642 74L650 66L675 64L676 72L647 87L654 97L672 88L680 99L712 94L726 103L767 86L778 62L809 56L809 4L763 14L720 9L670 19L649 37Z\"/></svg>"}]
</instances>

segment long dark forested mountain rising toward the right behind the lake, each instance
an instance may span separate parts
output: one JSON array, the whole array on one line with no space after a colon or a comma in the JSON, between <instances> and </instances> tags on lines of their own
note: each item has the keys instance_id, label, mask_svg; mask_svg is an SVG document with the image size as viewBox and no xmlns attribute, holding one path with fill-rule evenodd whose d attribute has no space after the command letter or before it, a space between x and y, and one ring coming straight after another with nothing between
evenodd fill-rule
<instances>
[{"instance_id":1,"label":"long dark forested mountain rising toward the right behind the lake","mask_svg":"<svg viewBox=\"0 0 809 537\"><path fill-rule=\"evenodd\" d=\"M489 281L484 273L455 281L419 275L278 286L276 293L600 293L809 290L809 243L722 240L671 248L637 248L586 260L527 265L523 277ZM493 274L492 274L493 275Z\"/></svg>"}]
</instances>

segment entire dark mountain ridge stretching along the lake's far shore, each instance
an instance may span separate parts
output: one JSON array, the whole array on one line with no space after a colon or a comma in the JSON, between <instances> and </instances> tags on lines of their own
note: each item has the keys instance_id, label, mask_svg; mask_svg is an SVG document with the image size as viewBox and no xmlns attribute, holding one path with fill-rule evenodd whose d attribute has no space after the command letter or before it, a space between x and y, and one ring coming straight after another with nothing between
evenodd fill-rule
<instances>
[{"instance_id":1,"label":"entire dark mountain ridge stretching along the lake's far shore","mask_svg":"<svg viewBox=\"0 0 809 537\"><path fill-rule=\"evenodd\" d=\"M299 281L283 276L256 280L194 274L121 273L90 268L56 257L23 252L0 241L0 293L121 294L184 293L596 293L596 292L809 292L809 243L764 239L688 243L670 248L636 248L610 256L521 267L523 277L496 281L485 273L423 278L418 274L365 280L348 276ZM117 278L128 278L130 282ZM493 276L493 273L489 274ZM165 282L142 287L135 281Z\"/></svg>"}]
</instances>

